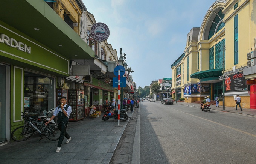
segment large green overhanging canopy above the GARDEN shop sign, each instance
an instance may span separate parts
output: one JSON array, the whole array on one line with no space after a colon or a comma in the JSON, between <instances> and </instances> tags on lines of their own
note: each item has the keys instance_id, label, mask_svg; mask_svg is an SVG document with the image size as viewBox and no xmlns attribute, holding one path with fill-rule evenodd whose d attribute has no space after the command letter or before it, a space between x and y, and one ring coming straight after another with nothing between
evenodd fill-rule
<instances>
[{"instance_id":1,"label":"large green overhanging canopy above the GARDEN shop sign","mask_svg":"<svg viewBox=\"0 0 256 164\"><path fill-rule=\"evenodd\" d=\"M0 11L1 21L64 57L93 59L94 51L43 0L1 0Z\"/></svg>"}]
</instances>

